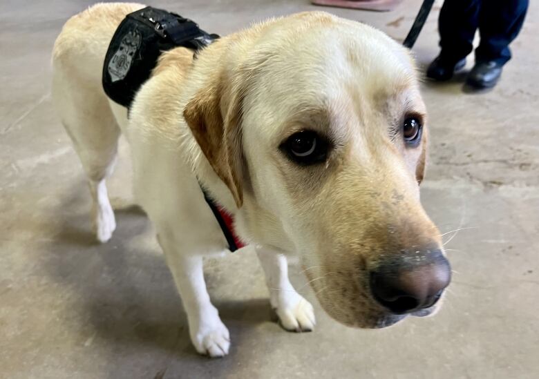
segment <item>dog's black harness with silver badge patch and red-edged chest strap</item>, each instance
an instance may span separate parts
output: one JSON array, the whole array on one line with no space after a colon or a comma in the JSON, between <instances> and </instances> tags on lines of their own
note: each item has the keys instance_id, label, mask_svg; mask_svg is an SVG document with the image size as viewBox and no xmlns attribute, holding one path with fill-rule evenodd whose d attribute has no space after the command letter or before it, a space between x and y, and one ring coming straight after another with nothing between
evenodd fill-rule
<instances>
[{"instance_id":1,"label":"dog's black harness with silver badge patch and red-edged chest strap","mask_svg":"<svg viewBox=\"0 0 539 379\"><path fill-rule=\"evenodd\" d=\"M210 35L198 28L195 22L166 10L146 7L129 13L108 45L102 77L105 93L111 100L129 109L162 52L183 46L194 50L196 57L198 50L218 38L218 35ZM223 230L229 250L236 251L243 247L243 242L234 233L231 215L215 204L202 186L200 189Z\"/></svg>"}]
</instances>

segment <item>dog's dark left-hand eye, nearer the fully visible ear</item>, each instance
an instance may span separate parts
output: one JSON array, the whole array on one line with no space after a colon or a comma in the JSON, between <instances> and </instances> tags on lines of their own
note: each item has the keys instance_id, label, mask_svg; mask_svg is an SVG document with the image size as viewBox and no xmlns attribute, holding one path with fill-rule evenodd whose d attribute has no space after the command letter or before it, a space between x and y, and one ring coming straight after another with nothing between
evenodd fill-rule
<instances>
[{"instance_id":1,"label":"dog's dark left-hand eye, nearer the fully visible ear","mask_svg":"<svg viewBox=\"0 0 539 379\"><path fill-rule=\"evenodd\" d=\"M281 150L298 164L316 164L325 161L328 142L312 130L302 130L288 137L281 144Z\"/></svg>"}]
</instances>

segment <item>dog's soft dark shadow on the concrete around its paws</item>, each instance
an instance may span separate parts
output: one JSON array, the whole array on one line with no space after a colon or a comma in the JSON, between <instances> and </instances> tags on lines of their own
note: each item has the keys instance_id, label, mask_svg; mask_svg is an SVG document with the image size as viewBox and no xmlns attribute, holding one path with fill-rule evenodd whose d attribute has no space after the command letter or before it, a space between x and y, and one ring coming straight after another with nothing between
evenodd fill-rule
<instances>
[{"instance_id":1,"label":"dog's soft dark shadow on the concrete around its paws","mask_svg":"<svg viewBox=\"0 0 539 379\"><path fill-rule=\"evenodd\" d=\"M152 367L153 373L143 377L153 378L164 373L171 360L207 361L191 346L180 297L158 245L149 242L151 225L144 212L137 206L116 207L117 229L111 241L99 244L91 232L89 213L83 214L79 206L77 213L69 214L69 203L74 201L62 205L64 221L48 246L46 269L55 282L77 294L73 306L81 330L74 332L87 337L84 346L116 351L110 361L106 358L108 378L119 378L131 365ZM206 277L211 287L213 279L208 273ZM246 324L272 318L269 301L263 298L215 299L214 304L234 344L240 343ZM144 358L132 362L133 355L122 351L139 351ZM232 348L227 359L233 359L234 353Z\"/></svg>"}]
</instances>

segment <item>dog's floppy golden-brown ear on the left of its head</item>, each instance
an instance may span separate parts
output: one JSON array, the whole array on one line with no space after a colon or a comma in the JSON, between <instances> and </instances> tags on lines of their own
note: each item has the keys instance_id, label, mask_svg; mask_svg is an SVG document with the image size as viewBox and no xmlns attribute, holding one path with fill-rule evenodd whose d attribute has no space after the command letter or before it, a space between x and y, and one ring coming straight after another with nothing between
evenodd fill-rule
<instances>
[{"instance_id":1,"label":"dog's floppy golden-brown ear on the left of its head","mask_svg":"<svg viewBox=\"0 0 539 379\"><path fill-rule=\"evenodd\" d=\"M223 98L225 93L227 99ZM239 90L215 80L200 90L183 111L202 153L230 189L238 208L243 205L240 103Z\"/></svg>"}]
</instances>

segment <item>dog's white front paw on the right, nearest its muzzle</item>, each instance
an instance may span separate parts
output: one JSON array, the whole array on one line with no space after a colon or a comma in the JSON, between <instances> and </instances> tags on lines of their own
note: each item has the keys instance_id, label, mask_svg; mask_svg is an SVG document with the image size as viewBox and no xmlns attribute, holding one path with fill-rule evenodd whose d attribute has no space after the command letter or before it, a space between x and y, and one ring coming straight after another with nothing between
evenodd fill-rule
<instances>
[{"instance_id":1,"label":"dog's white front paw on the right, nearest its muzzle","mask_svg":"<svg viewBox=\"0 0 539 379\"><path fill-rule=\"evenodd\" d=\"M275 304L276 303L276 304ZM312 331L316 324L312 304L297 292L281 292L272 301L281 326L287 331Z\"/></svg>"}]
</instances>

